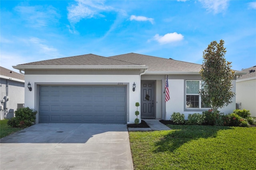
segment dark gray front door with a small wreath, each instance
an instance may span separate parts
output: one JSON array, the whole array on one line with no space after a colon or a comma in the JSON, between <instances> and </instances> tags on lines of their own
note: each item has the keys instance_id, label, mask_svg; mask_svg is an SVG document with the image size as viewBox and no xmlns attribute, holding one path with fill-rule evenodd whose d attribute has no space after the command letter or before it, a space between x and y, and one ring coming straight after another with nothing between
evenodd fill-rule
<instances>
[{"instance_id":1,"label":"dark gray front door with a small wreath","mask_svg":"<svg viewBox=\"0 0 256 170\"><path fill-rule=\"evenodd\" d=\"M141 118L154 119L155 117L155 82L141 82Z\"/></svg>"}]
</instances>

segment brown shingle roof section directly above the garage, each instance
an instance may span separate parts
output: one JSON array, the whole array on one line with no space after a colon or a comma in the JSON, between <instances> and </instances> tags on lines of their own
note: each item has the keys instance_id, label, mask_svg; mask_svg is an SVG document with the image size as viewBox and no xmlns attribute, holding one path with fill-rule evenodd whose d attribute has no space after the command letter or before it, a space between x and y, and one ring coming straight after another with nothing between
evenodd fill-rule
<instances>
[{"instance_id":1,"label":"brown shingle roof section directly above the garage","mask_svg":"<svg viewBox=\"0 0 256 170\"><path fill-rule=\"evenodd\" d=\"M94 54L48 59L19 65L138 65L130 61L120 61Z\"/></svg>"}]
</instances>

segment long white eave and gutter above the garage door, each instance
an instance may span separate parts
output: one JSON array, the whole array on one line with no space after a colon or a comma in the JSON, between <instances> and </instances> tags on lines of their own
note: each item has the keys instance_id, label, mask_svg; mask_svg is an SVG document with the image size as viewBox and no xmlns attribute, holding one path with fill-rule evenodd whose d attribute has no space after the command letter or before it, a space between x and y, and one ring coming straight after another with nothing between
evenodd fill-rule
<instances>
[{"instance_id":1,"label":"long white eave and gutter above the garage door","mask_svg":"<svg viewBox=\"0 0 256 170\"><path fill-rule=\"evenodd\" d=\"M147 69L146 65L16 65L14 69Z\"/></svg>"}]
</instances>

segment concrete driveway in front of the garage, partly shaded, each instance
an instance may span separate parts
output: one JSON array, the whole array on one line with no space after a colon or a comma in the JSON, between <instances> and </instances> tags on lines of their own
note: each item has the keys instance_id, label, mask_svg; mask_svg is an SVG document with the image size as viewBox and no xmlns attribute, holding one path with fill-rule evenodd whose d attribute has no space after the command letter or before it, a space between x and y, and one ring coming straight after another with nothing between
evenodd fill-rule
<instances>
[{"instance_id":1,"label":"concrete driveway in front of the garage, partly shaded","mask_svg":"<svg viewBox=\"0 0 256 170\"><path fill-rule=\"evenodd\" d=\"M1 170L132 170L126 125L36 124L1 139Z\"/></svg>"}]
</instances>

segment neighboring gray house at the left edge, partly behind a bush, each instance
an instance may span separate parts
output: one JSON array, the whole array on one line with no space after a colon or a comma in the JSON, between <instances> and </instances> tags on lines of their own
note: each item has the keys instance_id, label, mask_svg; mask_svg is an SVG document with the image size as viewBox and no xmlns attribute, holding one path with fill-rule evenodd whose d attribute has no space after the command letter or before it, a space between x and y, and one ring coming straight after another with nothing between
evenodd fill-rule
<instances>
[{"instance_id":1,"label":"neighboring gray house at the left edge, partly behind a bush","mask_svg":"<svg viewBox=\"0 0 256 170\"><path fill-rule=\"evenodd\" d=\"M14 117L14 111L24 107L24 82L24 75L0 67L1 120Z\"/></svg>"}]
</instances>

